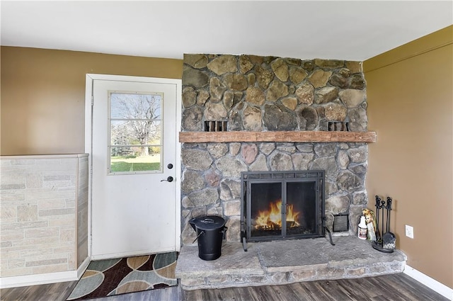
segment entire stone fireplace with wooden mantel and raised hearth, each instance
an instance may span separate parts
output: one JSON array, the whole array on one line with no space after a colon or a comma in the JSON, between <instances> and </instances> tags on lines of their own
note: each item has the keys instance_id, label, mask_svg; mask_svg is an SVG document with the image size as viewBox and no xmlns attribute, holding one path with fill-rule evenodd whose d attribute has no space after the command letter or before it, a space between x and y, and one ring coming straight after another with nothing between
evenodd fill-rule
<instances>
[{"instance_id":1,"label":"entire stone fireplace with wooden mantel and raised hearth","mask_svg":"<svg viewBox=\"0 0 453 301\"><path fill-rule=\"evenodd\" d=\"M183 246L176 276L184 290L403 271L406 256L401 251L384 254L356 237L359 216L367 206L367 143L376 142L375 133L367 132L360 62L185 55L182 118ZM321 185L321 180L291 179L319 172ZM244 175L252 180L244 184ZM256 175L264 179L275 176L275 181L259 181ZM301 193L301 189L315 192ZM248 199L244 191L258 193L259 198L264 191L270 197L256 209L246 203L249 213L244 213L241 202ZM317 193L322 195L319 207ZM306 207L294 204L302 201L301 195L308 200ZM247 227L256 221L248 224L245 219L253 216L256 220L260 211L278 208L280 201L283 221L265 217L259 231L270 232L252 234ZM308 204L313 203L318 209L310 208ZM315 217L294 218L294 211L300 214L304 210L313 210ZM290 211L292 217L287 217ZM215 261L198 258L193 244L195 232L188 221L202 215L224 217L228 227L222 256ZM334 243L324 237L287 239L292 235L304 238L305 234L321 237L325 234L322 222L331 232L336 215L348 215L349 230L336 232ZM248 243L244 251L241 236L247 238L248 234L256 242ZM263 241L268 234L273 241Z\"/></svg>"}]
</instances>

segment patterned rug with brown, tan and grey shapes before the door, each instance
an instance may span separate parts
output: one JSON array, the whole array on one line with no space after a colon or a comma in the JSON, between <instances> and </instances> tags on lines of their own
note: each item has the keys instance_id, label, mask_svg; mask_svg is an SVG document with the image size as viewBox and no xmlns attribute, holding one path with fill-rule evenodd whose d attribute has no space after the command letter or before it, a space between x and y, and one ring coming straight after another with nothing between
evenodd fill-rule
<instances>
[{"instance_id":1,"label":"patterned rug with brown, tan and grey shapes before the door","mask_svg":"<svg viewBox=\"0 0 453 301\"><path fill-rule=\"evenodd\" d=\"M91 261L67 300L86 300L168 288L175 278L177 252Z\"/></svg>"}]
</instances>

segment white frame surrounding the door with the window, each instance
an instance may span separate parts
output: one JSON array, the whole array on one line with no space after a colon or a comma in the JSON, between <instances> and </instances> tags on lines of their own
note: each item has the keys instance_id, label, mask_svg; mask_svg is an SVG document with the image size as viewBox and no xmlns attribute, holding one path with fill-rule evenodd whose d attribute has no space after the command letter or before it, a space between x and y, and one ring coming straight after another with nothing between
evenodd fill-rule
<instances>
[{"instance_id":1,"label":"white frame surrounding the door with the window","mask_svg":"<svg viewBox=\"0 0 453 301\"><path fill-rule=\"evenodd\" d=\"M92 161L91 157L93 154L91 138L93 135L93 114L92 114L92 101L93 101L93 81L94 80L110 80L110 81L139 81L139 82L148 82L148 81L160 81L162 83L176 84L176 130L181 128L181 98L182 98L182 80L181 79L161 79L154 77L144 77L144 76L123 76L123 75L109 75L109 74L86 74L86 86L85 86L85 152L89 154L88 156L88 257L91 259L91 209L92 209ZM179 142L179 132L176 132L176 199L175 199L175 210L176 216L180 216L180 162L181 154L181 144ZM178 174L179 173L179 174ZM176 251L180 251L180 218L176 218L175 222L176 227Z\"/></svg>"}]
</instances>

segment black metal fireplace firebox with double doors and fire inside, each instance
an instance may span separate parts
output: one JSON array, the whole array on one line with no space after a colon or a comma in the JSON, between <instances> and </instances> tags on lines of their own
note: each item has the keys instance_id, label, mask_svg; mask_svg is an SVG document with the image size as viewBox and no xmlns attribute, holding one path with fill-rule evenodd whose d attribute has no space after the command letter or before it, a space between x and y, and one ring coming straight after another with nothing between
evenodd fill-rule
<instances>
[{"instance_id":1,"label":"black metal fireplace firebox with double doors and fire inside","mask_svg":"<svg viewBox=\"0 0 453 301\"><path fill-rule=\"evenodd\" d=\"M241 172L241 240L323 237L324 171Z\"/></svg>"}]
</instances>

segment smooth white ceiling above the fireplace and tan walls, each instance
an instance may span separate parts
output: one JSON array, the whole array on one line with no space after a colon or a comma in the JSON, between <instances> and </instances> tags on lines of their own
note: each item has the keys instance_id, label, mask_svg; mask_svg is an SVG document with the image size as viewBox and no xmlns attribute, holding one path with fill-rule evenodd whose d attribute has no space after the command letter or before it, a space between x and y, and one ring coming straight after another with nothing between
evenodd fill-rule
<instances>
[{"instance_id":1,"label":"smooth white ceiling above the fireplace and tan walls","mask_svg":"<svg viewBox=\"0 0 453 301\"><path fill-rule=\"evenodd\" d=\"M182 59L364 61L453 24L453 1L4 1L1 45Z\"/></svg>"}]
</instances>

